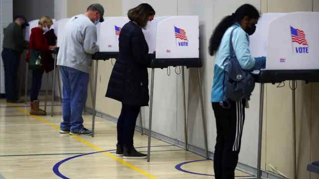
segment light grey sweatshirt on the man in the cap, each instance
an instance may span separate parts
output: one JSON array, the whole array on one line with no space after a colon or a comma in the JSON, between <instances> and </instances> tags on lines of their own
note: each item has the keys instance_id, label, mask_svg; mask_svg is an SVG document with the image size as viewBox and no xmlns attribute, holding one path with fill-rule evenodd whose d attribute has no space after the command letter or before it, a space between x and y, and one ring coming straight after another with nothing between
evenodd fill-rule
<instances>
[{"instance_id":1,"label":"light grey sweatshirt on the man in the cap","mask_svg":"<svg viewBox=\"0 0 319 179\"><path fill-rule=\"evenodd\" d=\"M72 17L64 27L64 35L59 53L57 65L74 68L90 73L92 55L99 51L96 45L96 26L84 14Z\"/></svg>"}]
</instances>

